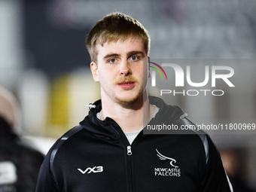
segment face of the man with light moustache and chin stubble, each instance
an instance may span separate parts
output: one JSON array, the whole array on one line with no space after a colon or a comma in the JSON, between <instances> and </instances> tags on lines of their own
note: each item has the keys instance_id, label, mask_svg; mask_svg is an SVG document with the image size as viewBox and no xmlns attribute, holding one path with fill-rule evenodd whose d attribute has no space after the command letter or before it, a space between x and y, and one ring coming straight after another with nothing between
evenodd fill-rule
<instances>
[{"instance_id":1,"label":"face of the man with light moustache and chin stubble","mask_svg":"<svg viewBox=\"0 0 256 192\"><path fill-rule=\"evenodd\" d=\"M102 99L129 105L142 98L148 79L147 53L142 39L97 45L98 63L91 63L93 78L101 84Z\"/></svg>"}]
</instances>

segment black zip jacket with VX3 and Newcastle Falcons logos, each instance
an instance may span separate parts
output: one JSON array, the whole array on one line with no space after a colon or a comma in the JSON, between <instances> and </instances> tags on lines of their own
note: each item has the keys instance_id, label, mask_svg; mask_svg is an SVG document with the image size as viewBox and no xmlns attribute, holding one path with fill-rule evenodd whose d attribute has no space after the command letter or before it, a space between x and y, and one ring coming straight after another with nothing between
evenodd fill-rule
<instances>
[{"instance_id":1,"label":"black zip jacket with VX3 and Newcastle Falcons logos","mask_svg":"<svg viewBox=\"0 0 256 192\"><path fill-rule=\"evenodd\" d=\"M151 123L190 123L184 112L151 97L160 111ZM38 177L47 191L230 191L221 157L207 135L139 133L130 143L111 118L96 117L101 102L50 149Z\"/></svg>"}]
</instances>

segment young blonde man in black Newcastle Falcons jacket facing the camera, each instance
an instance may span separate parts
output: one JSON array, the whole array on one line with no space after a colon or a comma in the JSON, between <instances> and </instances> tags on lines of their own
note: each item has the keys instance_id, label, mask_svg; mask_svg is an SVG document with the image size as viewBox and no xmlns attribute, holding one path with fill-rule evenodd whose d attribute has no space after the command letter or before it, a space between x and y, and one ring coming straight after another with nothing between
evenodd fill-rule
<instances>
[{"instance_id":1,"label":"young blonde man in black Newcastle Falcons jacket facing the camera","mask_svg":"<svg viewBox=\"0 0 256 192\"><path fill-rule=\"evenodd\" d=\"M149 47L132 17L96 23L87 49L102 99L50 149L36 191L231 191L209 136L143 134L146 123L191 123L181 108L148 98Z\"/></svg>"}]
</instances>

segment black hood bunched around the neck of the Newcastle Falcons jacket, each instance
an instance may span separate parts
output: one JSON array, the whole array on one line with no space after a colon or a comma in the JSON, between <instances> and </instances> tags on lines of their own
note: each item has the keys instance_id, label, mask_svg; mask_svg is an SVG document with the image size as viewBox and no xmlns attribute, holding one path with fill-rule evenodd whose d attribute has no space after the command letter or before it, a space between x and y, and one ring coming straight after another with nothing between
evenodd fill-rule
<instances>
[{"instance_id":1,"label":"black hood bunched around the neck of the Newcastle Falcons jacket","mask_svg":"<svg viewBox=\"0 0 256 192\"><path fill-rule=\"evenodd\" d=\"M177 120L181 116L186 115L178 106L166 105L166 103L163 102L163 99L155 96L150 96L149 102L159 108L159 111L156 116L152 118L150 123L163 122L163 120L172 122L173 120ZM95 108L90 108L88 116L81 121L80 125L85 130L104 137L105 139L119 139L122 130L113 119L106 117L105 120L99 120L98 117L96 117L96 114L102 110L101 100L94 102L93 105L95 105Z\"/></svg>"}]
</instances>

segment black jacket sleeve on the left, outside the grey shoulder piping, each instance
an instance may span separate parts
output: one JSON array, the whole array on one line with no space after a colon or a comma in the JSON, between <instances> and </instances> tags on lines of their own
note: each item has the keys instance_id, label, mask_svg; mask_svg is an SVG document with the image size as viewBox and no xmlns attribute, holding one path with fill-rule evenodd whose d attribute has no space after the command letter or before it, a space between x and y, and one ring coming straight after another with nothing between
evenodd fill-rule
<instances>
[{"instance_id":1,"label":"black jacket sleeve on the left, outside the grey shoulder piping","mask_svg":"<svg viewBox=\"0 0 256 192\"><path fill-rule=\"evenodd\" d=\"M53 176L53 172L50 169L50 156L52 149L48 152L44 158L44 162L41 165L41 169L38 175L38 184L36 192L57 192L59 191L56 181Z\"/></svg>"}]
</instances>

